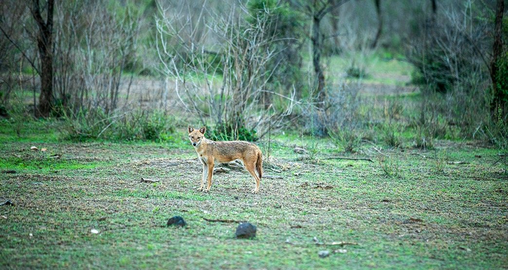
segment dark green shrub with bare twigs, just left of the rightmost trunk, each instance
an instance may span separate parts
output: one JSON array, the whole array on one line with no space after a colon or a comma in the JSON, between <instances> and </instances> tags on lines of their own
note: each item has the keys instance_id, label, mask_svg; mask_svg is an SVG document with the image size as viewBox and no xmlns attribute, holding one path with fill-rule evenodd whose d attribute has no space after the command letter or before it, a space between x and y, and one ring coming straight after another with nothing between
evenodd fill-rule
<instances>
[{"instance_id":1,"label":"dark green shrub with bare twigs, just left of the rightmost trunk","mask_svg":"<svg viewBox=\"0 0 508 270\"><path fill-rule=\"evenodd\" d=\"M491 38L486 31L487 20L482 19L488 15L482 13L483 9L472 7L468 1L466 5L452 5L445 10L438 23L427 25L408 53L419 74L416 83L424 85L423 117L419 124L429 122L422 121L428 118L424 114L439 113L457 126L463 137L472 137L479 126L487 124L491 99L485 56ZM442 95L435 98L435 92ZM435 107L428 107L432 102ZM424 129L429 130L429 135L441 136L435 134L436 127L427 125Z\"/></svg>"}]
</instances>

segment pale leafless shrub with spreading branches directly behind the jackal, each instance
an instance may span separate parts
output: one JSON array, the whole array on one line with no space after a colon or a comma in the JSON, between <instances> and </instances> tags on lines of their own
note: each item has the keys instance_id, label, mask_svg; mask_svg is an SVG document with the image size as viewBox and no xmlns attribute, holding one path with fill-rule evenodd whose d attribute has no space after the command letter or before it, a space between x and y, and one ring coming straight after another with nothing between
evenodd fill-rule
<instances>
[{"instance_id":1,"label":"pale leafless shrub with spreading branches directly behind the jackal","mask_svg":"<svg viewBox=\"0 0 508 270\"><path fill-rule=\"evenodd\" d=\"M182 13L161 4L159 11L157 52L162 71L174 81L185 110L204 125L213 123L217 132L212 133L226 134L228 139L243 136L253 140L266 134L268 108L275 110L272 127L283 124L295 104L295 91L292 97L286 97L266 89L275 71L267 70L266 65L277 54L269 46L276 37L267 31L268 16L247 22L233 6L224 15L200 16L191 24L182 18ZM203 32L198 32L198 27ZM217 41L213 46L206 42L210 36ZM279 102L287 99L285 103L289 105L280 109L262 104L263 94L274 95ZM256 136L252 136L255 132Z\"/></svg>"}]
</instances>

